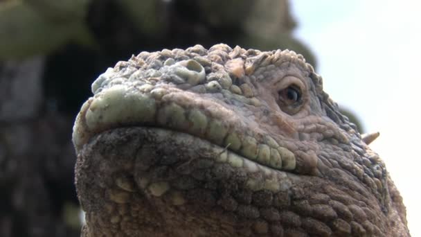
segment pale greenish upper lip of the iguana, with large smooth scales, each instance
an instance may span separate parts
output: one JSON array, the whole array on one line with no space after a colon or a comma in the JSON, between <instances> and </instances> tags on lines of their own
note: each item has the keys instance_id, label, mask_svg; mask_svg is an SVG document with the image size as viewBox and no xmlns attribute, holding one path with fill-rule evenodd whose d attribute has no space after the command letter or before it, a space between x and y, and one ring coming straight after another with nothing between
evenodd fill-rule
<instances>
[{"instance_id":1,"label":"pale greenish upper lip of the iguana, with large smooth scales","mask_svg":"<svg viewBox=\"0 0 421 237\"><path fill-rule=\"evenodd\" d=\"M184 132L213 143L222 151L230 151L229 162L247 159L276 170L296 168L293 152L267 134L247 130L244 119L222 105L189 98L186 91L177 88L163 86L147 91L149 86L114 86L88 100L75 123L76 146L105 130L140 125ZM222 156L226 154L222 152Z\"/></svg>"}]
</instances>

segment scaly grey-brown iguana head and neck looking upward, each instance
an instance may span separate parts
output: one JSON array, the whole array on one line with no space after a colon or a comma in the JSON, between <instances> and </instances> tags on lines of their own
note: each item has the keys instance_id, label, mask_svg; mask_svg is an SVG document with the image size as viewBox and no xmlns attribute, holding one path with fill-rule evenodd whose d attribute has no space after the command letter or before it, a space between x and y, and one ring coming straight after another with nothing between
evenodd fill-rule
<instances>
[{"instance_id":1,"label":"scaly grey-brown iguana head and neck looking upward","mask_svg":"<svg viewBox=\"0 0 421 237\"><path fill-rule=\"evenodd\" d=\"M292 51L118 62L73 128L82 236L409 236L384 163Z\"/></svg>"}]
</instances>

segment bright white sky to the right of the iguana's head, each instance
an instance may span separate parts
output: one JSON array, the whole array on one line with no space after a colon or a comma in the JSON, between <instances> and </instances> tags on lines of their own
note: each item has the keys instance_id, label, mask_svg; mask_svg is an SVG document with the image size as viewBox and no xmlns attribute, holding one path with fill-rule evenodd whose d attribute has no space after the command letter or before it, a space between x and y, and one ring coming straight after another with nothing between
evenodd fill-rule
<instances>
[{"instance_id":1,"label":"bright white sky to the right of the iguana's head","mask_svg":"<svg viewBox=\"0 0 421 237\"><path fill-rule=\"evenodd\" d=\"M421 1L290 0L294 35L316 55L323 87L355 112L421 236Z\"/></svg>"}]
</instances>

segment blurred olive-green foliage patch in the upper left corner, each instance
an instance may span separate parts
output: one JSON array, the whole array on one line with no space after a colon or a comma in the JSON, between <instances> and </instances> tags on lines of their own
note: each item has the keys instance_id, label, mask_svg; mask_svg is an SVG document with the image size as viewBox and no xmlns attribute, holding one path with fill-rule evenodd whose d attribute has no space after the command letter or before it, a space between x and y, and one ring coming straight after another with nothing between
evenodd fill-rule
<instances>
[{"instance_id":1,"label":"blurred olive-green foliage patch in the upper left corner","mask_svg":"<svg viewBox=\"0 0 421 237\"><path fill-rule=\"evenodd\" d=\"M89 0L0 2L0 60L48 54L71 41L92 44Z\"/></svg>"}]
</instances>

